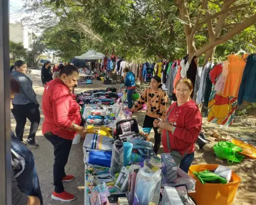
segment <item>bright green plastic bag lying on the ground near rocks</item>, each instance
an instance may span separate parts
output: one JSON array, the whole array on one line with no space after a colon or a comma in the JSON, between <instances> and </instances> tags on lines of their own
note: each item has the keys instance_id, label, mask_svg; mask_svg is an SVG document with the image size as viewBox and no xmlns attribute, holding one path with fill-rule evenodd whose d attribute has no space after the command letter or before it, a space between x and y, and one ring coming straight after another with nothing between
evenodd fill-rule
<instances>
[{"instance_id":1,"label":"bright green plastic bag lying on the ground near rocks","mask_svg":"<svg viewBox=\"0 0 256 205\"><path fill-rule=\"evenodd\" d=\"M244 156L238 154L243 151L239 146L234 145L231 142L218 142L213 146L214 153L219 159L227 159L228 163L241 162Z\"/></svg>"}]
</instances>

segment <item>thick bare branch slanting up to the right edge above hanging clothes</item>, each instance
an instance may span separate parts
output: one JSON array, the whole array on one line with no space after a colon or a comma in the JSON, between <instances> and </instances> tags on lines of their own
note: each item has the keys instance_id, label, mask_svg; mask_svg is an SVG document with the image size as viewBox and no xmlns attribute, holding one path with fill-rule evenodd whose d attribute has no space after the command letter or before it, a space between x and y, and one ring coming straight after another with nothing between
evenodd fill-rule
<instances>
[{"instance_id":1,"label":"thick bare branch slanting up to the right edge above hanging clothes","mask_svg":"<svg viewBox=\"0 0 256 205\"><path fill-rule=\"evenodd\" d=\"M222 35L219 38L216 38L215 41L208 43L207 45L203 46L203 48L198 49L195 55L199 57L209 49L214 48L215 46L220 45L222 43L225 43L226 41L230 40L230 38L233 38L235 35L244 31L244 29L246 29L247 27L252 26L252 24L254 24L255 22L256 22L256 14L253 16L250 16L250 18L247 18L247 20L244 20L241 24L234 27L231 31L227 32L226 34Z\"/></svg>"}]
</instances>

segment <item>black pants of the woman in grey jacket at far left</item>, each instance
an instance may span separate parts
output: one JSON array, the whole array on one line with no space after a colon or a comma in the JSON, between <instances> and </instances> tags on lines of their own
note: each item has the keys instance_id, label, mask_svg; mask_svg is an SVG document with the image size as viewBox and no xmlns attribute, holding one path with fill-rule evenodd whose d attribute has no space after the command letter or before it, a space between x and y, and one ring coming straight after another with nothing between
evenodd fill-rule
<instances>
[{"instance_id":1,"label":"black pants of the woman in grey jacket at far left","mask_svg":"<svg viewBox=\"0 0 256 205\"><path fill-rule=\"evenodd\" d=\"M23 133L27 118L31 122L28 140L35 140L40 123L39 106L34 103L24 105L13 104L12 113L16 120L15 132L19 140L21 142L23 141Z\"/></svg>"}]
</instances>

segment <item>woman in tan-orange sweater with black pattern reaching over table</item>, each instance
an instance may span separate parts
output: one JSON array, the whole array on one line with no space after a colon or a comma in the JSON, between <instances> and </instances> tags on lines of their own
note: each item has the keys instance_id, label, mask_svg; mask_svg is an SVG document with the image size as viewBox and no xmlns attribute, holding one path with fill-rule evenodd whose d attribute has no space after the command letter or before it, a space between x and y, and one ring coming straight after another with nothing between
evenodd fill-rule
<instances>
[{"instance_id":1,"label":"woman in tan-orange sweater with black pattern reaching over table","mask_svg":"<svg viewBox=\"0 0 256 205\"><path fill-rule=\"evenodd\" d=\"M153 128L155 135L154 153L158 153L161 144L161 135L158 128L154 127L154 120L161 118L164 120L165 112L167 110L167 94L162 90L161 78L154 76L150 82L150 88L146 88L143 94L138 98L137 102L132 107L132 112L137 112L143 104L146 104L147 111L145 120L143 122L143 128Z\"/></svg>"}]
</instances>

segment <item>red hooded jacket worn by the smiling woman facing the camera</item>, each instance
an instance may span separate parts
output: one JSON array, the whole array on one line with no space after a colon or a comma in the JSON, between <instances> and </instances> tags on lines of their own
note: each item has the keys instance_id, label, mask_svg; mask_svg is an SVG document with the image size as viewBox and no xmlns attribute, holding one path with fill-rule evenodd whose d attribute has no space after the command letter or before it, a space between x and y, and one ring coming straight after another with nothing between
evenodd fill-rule
<instances>
[{"instance_id":1,"label":"red hooded jacket worn by the smiling woman facing the camera","mask_svg":"<svg viewBox=\"0 0 256 205\"><path fill-rule=\"evenodd\" d=\"M171 111L170 111L171 110ZM197 104L193 100L177 106L177 103L171 104L167 110L167 115L170 112L168 121L173 123L173 132L169 132L170 148L178 151L181 154L193 153L195 151L195 142L198 134L201 132L201 113ZM166 117L167 117L166 115ZM163 131L162 145L165 153L168 153L167 135Z\"/></svg>"}]
</instances>

